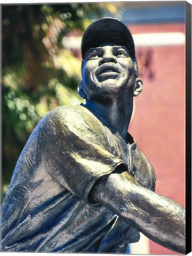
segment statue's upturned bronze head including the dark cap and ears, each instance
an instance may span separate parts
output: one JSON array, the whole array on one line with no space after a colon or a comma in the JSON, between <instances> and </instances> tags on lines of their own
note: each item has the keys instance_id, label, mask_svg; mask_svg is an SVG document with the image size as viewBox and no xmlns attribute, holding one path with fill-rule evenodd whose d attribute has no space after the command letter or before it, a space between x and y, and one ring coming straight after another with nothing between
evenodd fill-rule
<instances>
[{"instance_id":1,"label":"statue's upturned bronze head including the dark cap and ears","mask_svg":"<svg viewBox=\"0 0 192 256\"><path fill-rule=\"evenodd\" d=\"M130 96L142 91L135 44L130 30L115 18L94 21L85 30L81 42L82 98L100 98L129 88Z\"/></svg>"}]
</instances>

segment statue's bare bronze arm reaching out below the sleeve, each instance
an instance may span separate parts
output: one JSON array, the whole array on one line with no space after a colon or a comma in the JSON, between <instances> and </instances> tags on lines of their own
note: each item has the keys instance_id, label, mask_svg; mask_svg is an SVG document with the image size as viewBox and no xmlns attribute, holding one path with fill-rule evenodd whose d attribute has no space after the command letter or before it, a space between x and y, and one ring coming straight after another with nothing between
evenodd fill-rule
<instances>
[{"instance_id":1,"label":"statue's bare bronze arm reaching out below the sleeve","mask_svg":"<svg viewBox=\"0 0 192 256\"><path fill-rule=\"evenodd\" d=\"M140 186L127 171L100 178L91 197L158 244L185 253L185 209Z\"/></svg>"}]
</instances>

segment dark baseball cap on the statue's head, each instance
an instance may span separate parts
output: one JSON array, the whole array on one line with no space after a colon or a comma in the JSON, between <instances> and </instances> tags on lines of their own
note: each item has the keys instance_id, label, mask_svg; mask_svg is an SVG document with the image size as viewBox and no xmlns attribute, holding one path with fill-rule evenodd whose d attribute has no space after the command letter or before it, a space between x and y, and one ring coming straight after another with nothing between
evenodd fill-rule
<instances>
[{"instance_id":1,"label":"dark baseball cap on the statue's head","mask_svg":"<svg viewBox=\"0 0 192 256\"><path fill-rule=\"evenodd\" d=\"M135 44L129 28L116 18L101 18L87 27L81 40L82 59L89 49L101 43L117 43L125 46L135 56Z\"/></svg>"}]
</instances>

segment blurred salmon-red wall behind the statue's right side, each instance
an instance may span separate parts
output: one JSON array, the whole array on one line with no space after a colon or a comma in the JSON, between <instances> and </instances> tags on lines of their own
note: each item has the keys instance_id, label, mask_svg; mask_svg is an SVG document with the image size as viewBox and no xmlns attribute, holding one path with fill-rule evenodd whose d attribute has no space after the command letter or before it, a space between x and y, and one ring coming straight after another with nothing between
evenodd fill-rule
<instances>
[{"instance_id":1,"label":"blurred salmon-red wall behind the statue's right side","mask_svg":"<svg viewBox=\"0 0 192 256\"><path fill-rule=\"evenodd\" d=\"M133 34L183 32L184 24L134 25ZM143 92L135 98L129 132L156 171L156 193L184 206L185 199L185 46L151 47L155 76L145 73ZM145 53L148 47L138 47ZM150 241L151 254L175 255ZM178 254L177 254L178 255Z\"/></svg>"}]
</instances>

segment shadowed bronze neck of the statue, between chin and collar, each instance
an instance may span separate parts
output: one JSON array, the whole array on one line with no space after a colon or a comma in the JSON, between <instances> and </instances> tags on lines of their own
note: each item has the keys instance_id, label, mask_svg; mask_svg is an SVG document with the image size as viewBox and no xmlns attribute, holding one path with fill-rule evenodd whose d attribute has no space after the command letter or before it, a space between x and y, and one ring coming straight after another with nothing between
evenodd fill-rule
<instances>
[{"instance_id":1,"label":"shadowed bronze neck of the statue, between chin and collar","mask_svg":"<svg viewBox=\"0 0 192 256\"><path fill-rule=\"evenodd\" d=\"M132 116L133 101L124 102L117 98L114 98L113 101L107 101L107 103L87 100L85 106L107 120L126 140L127 129Z\"/></svg>"}]
</instances>

